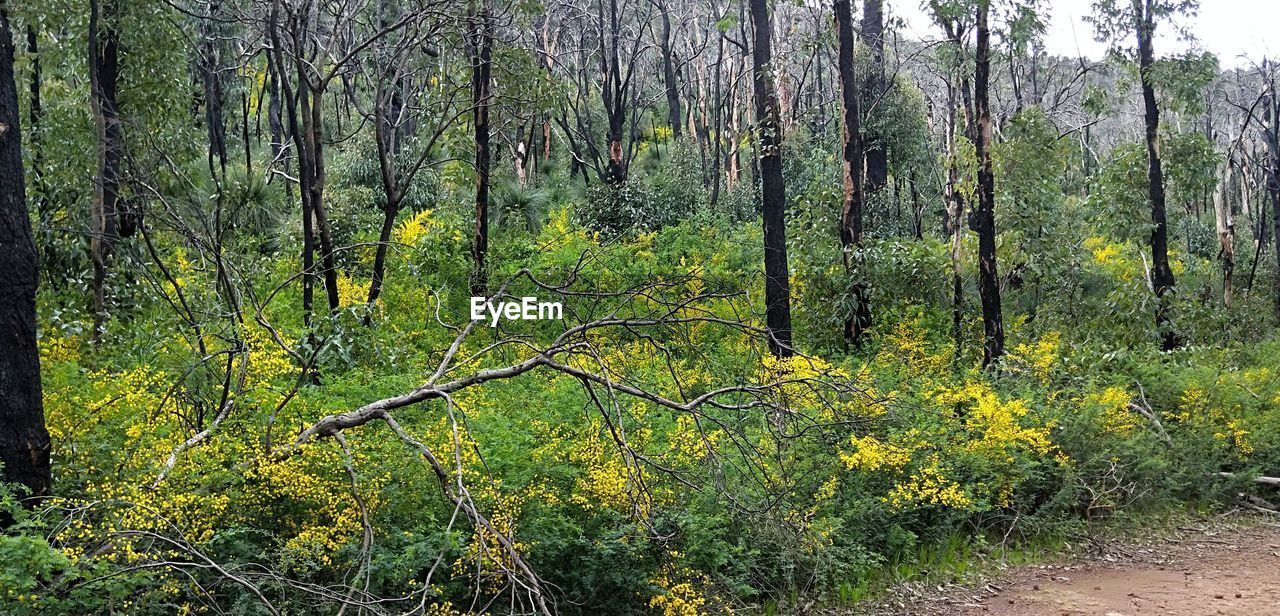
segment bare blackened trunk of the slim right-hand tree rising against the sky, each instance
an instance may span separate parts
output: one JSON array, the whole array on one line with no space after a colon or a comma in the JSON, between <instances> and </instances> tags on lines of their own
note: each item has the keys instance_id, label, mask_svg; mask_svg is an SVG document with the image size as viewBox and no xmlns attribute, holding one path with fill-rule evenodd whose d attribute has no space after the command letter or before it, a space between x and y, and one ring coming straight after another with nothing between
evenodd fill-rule
<instances>
[{"instance_id":1,"label":"bare blackened trunk of the slim right-hand tree rising against the sky","mask_svg":"<svg viewBox=\"0 0 1280 616\"><path fill-rule=\"evenodd\" d=\"M1171 351L1178 347L1178 332L1169 316L1169 292L1174 289L1174 270L1169 266L1169 224L1165 218L1165 172L1160 165L1160 108L1156 105L1156 88L1152 83L1152 69L1156 53L1152 38L1156 35L1156 19L1152 15L1151 0L1139 4L1134 0L1134 18L1138 32L1138 68L1142 72L1143 118L1147 128L1147 193L1151 199L1151 287L1156 292L1156 329L1161 337L1161 348Z\"/></svg>"}]
</instances>

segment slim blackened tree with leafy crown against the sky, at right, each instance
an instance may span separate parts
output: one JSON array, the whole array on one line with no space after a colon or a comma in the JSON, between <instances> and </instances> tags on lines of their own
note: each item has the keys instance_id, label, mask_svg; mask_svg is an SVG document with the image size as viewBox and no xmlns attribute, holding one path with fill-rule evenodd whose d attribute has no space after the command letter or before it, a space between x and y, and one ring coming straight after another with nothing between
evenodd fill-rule
<instances>
[{"instance_id":1,"label":"slim blackened tree with leafy crown against the sky, at right","mask_svg":"<svg viewBox=\"0 0 1280 616\"><path fill-rule=\"evenodd\" d=\"M1142 82L1143 128L1147 138L1147 197L1151 201L1151 288L1156 295L1156 329L1161 348L1178 347L1178 332L1169 315L1170 292L1174 291L1174 270L1169 265L1169 222L1165 214L1165 172L1160 160L1160 106L1156 102L1153 38L1156 24L1175 13L1194 13L1196 0L1132 0L1121 6L1120 0L1094 3L1092 18L1098 40L1110 40L1114 47L1134 36L1137 41L1138 76Z\"/></svg>"}]
</instances>

